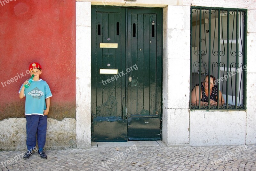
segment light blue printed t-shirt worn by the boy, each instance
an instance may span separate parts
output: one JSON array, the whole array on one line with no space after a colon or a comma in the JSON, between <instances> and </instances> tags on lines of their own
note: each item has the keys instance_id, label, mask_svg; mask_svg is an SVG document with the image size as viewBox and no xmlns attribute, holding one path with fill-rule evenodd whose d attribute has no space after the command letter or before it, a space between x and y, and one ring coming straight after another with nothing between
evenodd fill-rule
<instances>
[{"instance_id":1,"label":"light blue printed t-shirt worn by the boy","mask_svg":"<svg viewBox=\"0 0 256 171\"><path fill-rule=\"evenodd\" d=\"M38 81L33 80L30 86L27 89L25 88L24 95L26 96L25 114L44 115L44 110L46 109L45 99L52 97L48 84L42 79Z\"/></svg>"}]
</instances>

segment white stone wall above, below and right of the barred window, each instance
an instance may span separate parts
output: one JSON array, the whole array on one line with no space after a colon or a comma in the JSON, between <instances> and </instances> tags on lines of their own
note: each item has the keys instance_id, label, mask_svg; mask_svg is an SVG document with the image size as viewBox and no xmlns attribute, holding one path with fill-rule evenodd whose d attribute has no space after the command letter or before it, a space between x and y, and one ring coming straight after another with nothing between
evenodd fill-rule
<instances>
[{"instance_id":1,"label":"white stone wall above, below and right of the barred window","mask_svg":"<svg viewBox=\"0 0 256 171\"><path fill-rule=\"evenodd\" d=\"M190 5L191 0L184 0ZM247 18L247 110L229 112L190 111L189 145L228 145L256 143L256 2L255 0L193 0L193 6L248 9ZM202 113L204 116L202 117ZM212 115L211 115L212 114ZM205 123L202 123L205 122ZM216 128L216 125L218 127ZM207 133L207 134L206 134Z\"/></svg>"}]
</instances>

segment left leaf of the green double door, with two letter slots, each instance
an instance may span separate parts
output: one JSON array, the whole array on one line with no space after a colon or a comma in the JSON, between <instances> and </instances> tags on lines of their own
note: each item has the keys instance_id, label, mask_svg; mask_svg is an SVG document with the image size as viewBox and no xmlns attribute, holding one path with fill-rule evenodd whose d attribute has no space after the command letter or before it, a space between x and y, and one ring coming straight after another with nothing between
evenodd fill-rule
<instances>
[{"instance_id":1,"label":"left leaf of the green double door, with two letter slots","mask_svg":"<svg viewBox=\"0 0 256 171\"><path fill-rule=\"evenodd\" d=\"M125 77L100 74L100 69L125 69L125 9L92 7L92 140L127 141L123 116ZM100 48L100 43L118 43Z\"/></svg>"}]
</instances>

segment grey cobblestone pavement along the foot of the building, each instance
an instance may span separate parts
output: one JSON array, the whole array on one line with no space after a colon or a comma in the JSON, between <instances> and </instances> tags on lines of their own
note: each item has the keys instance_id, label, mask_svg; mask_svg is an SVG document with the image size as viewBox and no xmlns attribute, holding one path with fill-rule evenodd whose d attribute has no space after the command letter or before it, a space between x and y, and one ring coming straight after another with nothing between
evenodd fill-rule
<instances>
[{"instance_id":1,"label":"grey cobblestone pavement along the foot of the building","mask_svg":"<svg viewBox=\"0 0 256 171\"><path fill-rule=\"evenodd\" d=\"M213 147L92 147L45 151L48 159L24 151L1 151L7 170L255 170L256 144ZM15 161L16 160L16 161Z\"/></svg>"}]
</instances>

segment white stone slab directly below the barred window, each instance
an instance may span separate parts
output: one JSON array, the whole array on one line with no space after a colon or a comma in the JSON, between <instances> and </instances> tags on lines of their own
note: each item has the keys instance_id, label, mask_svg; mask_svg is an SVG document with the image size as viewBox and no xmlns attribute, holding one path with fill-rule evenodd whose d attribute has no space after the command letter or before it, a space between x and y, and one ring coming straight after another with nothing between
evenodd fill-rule
<instances>
[{"instance_id":1,"label":"white stone slab directly below the barred window","mask_svg":"<svg viewBox=\"0 0 256 171\"><path fill-rule=\"evenodd\" d=\"M190 111L190 146L245 144L245 111Z\"/></svg>"}]
</instances>

